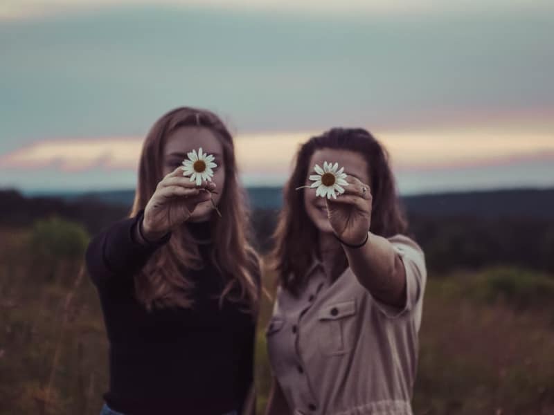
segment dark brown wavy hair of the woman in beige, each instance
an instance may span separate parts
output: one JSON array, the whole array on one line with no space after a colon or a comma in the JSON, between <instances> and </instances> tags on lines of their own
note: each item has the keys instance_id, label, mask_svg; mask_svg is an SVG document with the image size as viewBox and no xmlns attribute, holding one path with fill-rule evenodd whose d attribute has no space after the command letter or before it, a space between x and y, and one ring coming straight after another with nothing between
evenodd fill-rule
<instances>
[{"instance_id":1,"label":"dark brown wavy hair of the woman in beige","mask_svg":"<svg viewBox=\"0 0 554 415\"><path fill-rule=\"evenodd\" d=\"M304 206L305 185L310 159L318 149L330 148L356 151L368 165L368 177L373 195L370 231L382 237L404 233L407 221L400 207L395 180L388 165L388 153L365 129L333 128L301 145L294 160L294 169L283 188L283 209L274 232L275 248L271 252L271 267L278 271L279 283L292 293L304 283L304 275L319 256L318 230ZM346 257L346 255L345 255ZM345 259L346 261L346 259Z\"/></svg>"}]
</instances>

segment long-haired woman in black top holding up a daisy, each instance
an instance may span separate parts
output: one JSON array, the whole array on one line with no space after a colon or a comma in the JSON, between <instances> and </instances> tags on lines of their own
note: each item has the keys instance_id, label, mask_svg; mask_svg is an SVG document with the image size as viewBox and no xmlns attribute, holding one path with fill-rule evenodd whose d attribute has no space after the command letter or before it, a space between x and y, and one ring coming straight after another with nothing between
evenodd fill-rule
<instances>
[{"instance_id":1,"label":"long-haired woman in black top holding up a daisy","mask_svg":"<svg viewBox=\"0 0 554 415\"><path fill-rule=\"evenodd\" d=\"M260 268L244 200L215 114L154 124L129 217L87 248L109 338L102 414L252 413Z\"/></svg>"}]
</instances>

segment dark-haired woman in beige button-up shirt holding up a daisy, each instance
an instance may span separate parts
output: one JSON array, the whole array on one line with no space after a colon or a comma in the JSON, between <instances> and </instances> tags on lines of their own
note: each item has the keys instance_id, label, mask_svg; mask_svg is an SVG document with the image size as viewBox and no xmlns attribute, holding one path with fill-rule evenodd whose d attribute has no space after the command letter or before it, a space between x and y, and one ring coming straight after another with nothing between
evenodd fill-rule
<instances>
[{"instance_id":1,"label":"dark-haired woman in beige button-up shirt holding up a daisy","mask_svg":"<svg viewBox=\"0 0 554 415\"><path fill-rule=\"evenodd\" d=\"M331 129L299 149L284 196L267 414L411 415L427 273L386 151Z\"/></svg>"}]
</instances>

